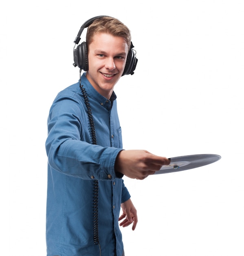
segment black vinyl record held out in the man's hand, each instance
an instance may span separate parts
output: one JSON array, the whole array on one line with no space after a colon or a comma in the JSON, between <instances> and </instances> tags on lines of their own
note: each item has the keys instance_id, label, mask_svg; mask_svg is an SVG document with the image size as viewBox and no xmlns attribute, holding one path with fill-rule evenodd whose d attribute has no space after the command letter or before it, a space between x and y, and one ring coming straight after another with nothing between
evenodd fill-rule
<instances>
[{"instance_id":1,"label":"black vinyl record held out in the man's hand","mask_svg":"<svg viewBox=\"0 0 244 256\"><path fill-rule=\"evenodd\" d=\"M171 157L170 164L164 165L160 168L159 171L156 171L154 174L161 173L173 173L178 171L185 171L207 164L212 164L218 161L221 158L220 155L212 154L201 154L201 155L185 155L181 157Z\"/></svg>"}]
</instances>

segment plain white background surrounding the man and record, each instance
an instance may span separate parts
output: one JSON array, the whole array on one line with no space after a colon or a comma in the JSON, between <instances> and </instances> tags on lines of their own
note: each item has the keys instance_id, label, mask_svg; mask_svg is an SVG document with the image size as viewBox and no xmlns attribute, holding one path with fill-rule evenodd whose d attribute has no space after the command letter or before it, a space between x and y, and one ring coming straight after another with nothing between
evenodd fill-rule
<instances>
[{"instance_id":1,"label":"plain white background surrounding the man and record","mask_svg":"<svg viewBox=\"0 0 244 256\"><path fill-rule=\"evenodd\" d=\"M241 0L1 3L0 254L46 254L48 110L79 79L79 28L108 15L130 28L139 60L115 88L124 148L222 156L143 181L125 177L139 218L135 231L122 229L126 256L243 256L243 13Z\"/></svg>"}]
</instances>

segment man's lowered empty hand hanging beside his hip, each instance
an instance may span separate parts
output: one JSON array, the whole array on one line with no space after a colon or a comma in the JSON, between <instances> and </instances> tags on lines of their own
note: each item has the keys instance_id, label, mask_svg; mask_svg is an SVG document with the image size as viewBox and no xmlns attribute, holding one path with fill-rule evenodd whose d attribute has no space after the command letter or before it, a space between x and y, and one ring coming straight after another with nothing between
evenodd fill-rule
<instances>
[{"instance_id":1,"label":"man's lowered empty hand hanging beside his hip","mask_svg":"<svg viewBox=\"0 0 244 256\"><path fill-rule=\"evenodd\" d=\"M123 211L123 214L119 217L119 221L124 219L119 225L122 227L128 227L130 224L132 225L132 230L135 230L136 224L138 222L137 220L137 211L134 205L132 204L132 201L129 199L121 204L121 208Z\"/></svg>"}]
</instances>

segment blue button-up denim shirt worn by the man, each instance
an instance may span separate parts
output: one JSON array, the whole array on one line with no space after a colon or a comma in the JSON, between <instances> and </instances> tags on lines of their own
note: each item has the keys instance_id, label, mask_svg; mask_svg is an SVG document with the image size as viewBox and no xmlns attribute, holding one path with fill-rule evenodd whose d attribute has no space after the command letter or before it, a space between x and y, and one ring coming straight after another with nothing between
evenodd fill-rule
<instances>
[{"instance_id":1,"label":"blue button-up denim shirt worn by the man","mask_svg":"<svg viewBox=\"0 0 244 256\"><path fill-rule=\"evenodd\" d=\"M79 82L59 92L48 116L48 187L46 244L48 256L99 256L93 238L94 180L99 181L98 232L102 256L121 256L121 202L130 198L114 170L122 150L116 95L110 100L81 76L95 123L92 145L88 111Z\"/></svg>"}]
</instances>

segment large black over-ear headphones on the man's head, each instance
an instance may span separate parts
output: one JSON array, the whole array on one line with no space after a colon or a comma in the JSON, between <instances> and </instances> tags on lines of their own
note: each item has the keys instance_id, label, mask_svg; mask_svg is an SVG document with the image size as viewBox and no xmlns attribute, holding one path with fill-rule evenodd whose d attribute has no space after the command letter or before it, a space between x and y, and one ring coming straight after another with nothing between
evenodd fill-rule
<instances>
[{"instance_id":1,"label":"large black over-ear headphones on the man's head","mask_svg":"<svg viewBox=\"0 0 244 256\"><path fill-rule=\"evenodd\" d=\"M87 71L88 70L88 49L87 49L87 43L83 42L80 45L78 45L79 41L81 40L81 33L86 28L89 27L92 22L96 19L103 18L103 17L110 17L110 16L96 16L94 18L91 18L90 20L87 20L80 28L76 38L75 38L75 45L77 45L77 48L74 47L74 61L73 65L76 67L78 66L80 69ZM132 49L134 45L131 42L130 50L127 55L126 63L125 63L125 69L122 74L123 75L133 75L134 70L136 69L136 64L138 59L136 58L135 52Z\"/></svg>"}]
</instances>

